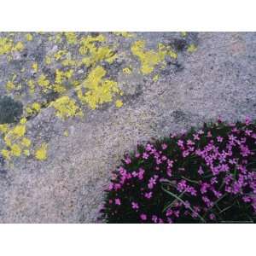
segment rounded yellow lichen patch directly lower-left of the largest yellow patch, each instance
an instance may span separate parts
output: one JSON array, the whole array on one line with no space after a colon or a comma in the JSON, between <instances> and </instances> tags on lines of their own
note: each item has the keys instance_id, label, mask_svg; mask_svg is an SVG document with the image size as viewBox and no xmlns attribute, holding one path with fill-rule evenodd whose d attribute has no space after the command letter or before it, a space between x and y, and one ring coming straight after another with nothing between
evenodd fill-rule
<instances>
[{"instance_id":1,"label":"rounded yellow lichen patch directly lower-left of the largest yellow patch","mask_svg":"<svg viewBox=\"0 0 256 256\"><path fill-rule=\"evenodd\" d=\"M55 102L51 102L50 106L55 108L56 116L61 119L82 115L82 111L76 102L68 96L58 98Z\"/></svg>"}]
</instances>

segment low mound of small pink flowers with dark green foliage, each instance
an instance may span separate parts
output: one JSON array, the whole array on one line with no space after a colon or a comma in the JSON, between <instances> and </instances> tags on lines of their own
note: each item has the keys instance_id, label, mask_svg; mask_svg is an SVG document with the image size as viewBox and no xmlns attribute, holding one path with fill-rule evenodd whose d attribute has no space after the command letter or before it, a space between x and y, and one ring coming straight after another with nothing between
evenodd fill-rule
<instances>
[{"instance_id":1,"label":"low mound of small pink flowers with dark green foliage","mask_svg":"<svg viewBox=\"0 0 256 256\"><path fill-rule=\"evenodd\" d=\"M216 222L235 200L256 213L255 125L246 119L227 127L219 120L214 128L172 135L127 155L108 187L105 209L120 221L128 212L142 223Z\"/></svg>"}]
</instances>

